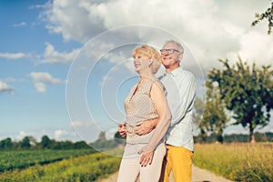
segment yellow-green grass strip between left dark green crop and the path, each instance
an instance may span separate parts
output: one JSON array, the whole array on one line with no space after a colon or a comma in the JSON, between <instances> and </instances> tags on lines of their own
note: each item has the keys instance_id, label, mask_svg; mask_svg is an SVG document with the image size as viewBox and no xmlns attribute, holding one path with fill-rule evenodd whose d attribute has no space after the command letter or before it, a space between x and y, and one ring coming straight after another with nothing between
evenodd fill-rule
<instances>
[{"instance_id":1,"label":"yellow-green grass strip between left dark green crop and the path","mask_svg":"<svg viewBox=\"0 0 273 182\"><path fill-rule=\"evenodd\" d=\"M119 152L119 151L114 151ZM0 174L0 181L96 181L118 170L120 157L96 153L70 157L47 165L36 164Z\"/></svg>"}]
</instances>

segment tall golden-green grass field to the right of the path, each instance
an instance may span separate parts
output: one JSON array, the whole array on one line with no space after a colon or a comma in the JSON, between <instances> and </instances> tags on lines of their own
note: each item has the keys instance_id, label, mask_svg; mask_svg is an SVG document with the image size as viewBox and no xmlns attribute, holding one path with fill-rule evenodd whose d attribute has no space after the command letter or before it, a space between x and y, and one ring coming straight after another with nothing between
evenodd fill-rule
<instances>
[{"instance_id":1,"label":"tall golden-green grass field to the right of the path","mask_svg":"<svg viewBox=\"0 0 273 182\"><path fill-rule=\"evenodd\" d=\"M195 145L193 162L234 181L273 181L273 144Z\"/></svg>"}]
</instances>

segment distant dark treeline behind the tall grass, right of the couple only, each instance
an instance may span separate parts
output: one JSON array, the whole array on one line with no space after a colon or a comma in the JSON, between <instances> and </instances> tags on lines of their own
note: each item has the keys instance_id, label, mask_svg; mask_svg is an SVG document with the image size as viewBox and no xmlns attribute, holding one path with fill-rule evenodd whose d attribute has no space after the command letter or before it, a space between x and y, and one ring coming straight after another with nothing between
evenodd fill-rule
<instances>
[{"instance_id":1,"label":"distant dark treeline behind the tall grass, right of the couple only","mask_svg":"<svg viewBox=\"0 0 273 182\"><path fill-rule=\"evenodd\" d=\"M212 134L206 137L206 141L203 141L200 136L195 136L195 143L216 143L217 142L217 135ZM256 142L273 142L273 133L266 132L266 133L255 133L255 140ZM232 135L225 135L224 136L225 143L231 142L249 142L249 135L244 134L232 134Z\"/></svg>"}]
</instances>

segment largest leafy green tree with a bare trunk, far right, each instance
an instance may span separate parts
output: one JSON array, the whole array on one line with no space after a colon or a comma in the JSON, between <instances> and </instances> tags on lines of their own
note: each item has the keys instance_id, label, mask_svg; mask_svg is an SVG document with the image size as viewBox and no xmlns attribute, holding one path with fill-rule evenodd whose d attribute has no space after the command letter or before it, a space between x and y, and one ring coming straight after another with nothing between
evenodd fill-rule
<instances>
[{"instance_id":1,"label":"largest leafy green tree with a bare trunk, far right","mask_svg":"<svg viewBox=\"0 0 273 182\"><path fill-rule=\"evenodd\" d=\"M213 68L208 73L208 82L216 84L220 98L233 118L234 125L249 129L250 142L255 142L254 129L268 125L273 108L273 71L271 66L250 68L239 57L238 63L229 66L228 60L219 60L224 69Z\"/></svg>"}]
</instances>

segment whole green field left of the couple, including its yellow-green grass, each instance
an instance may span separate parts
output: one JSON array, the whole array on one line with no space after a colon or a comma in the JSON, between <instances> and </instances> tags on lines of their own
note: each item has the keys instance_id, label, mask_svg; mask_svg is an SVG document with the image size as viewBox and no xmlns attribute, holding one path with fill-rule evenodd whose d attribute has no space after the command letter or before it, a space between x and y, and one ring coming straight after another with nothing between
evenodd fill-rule
<instances>
[{"instance_id":1,"label":"whole green field left of the couple, including its yellow-green grass","mask_svg":"<svg viewBox=\"0 0 273 182\"><path fill-rule=\"evenodd\" d=\"M14 161L18 160L21 165L20 167L6 166L9 169L5 169L5 172L0 173L0 181L96 181L99 177L106 177L117 171L120 157L110 157L101 153L87 154L86 151L49 150L46 153L40 150L1 153L0 157L6 160L5 162L13 164ZM120 150L114 152L120 152ZM38 162L43 161L42 156L45 153L51 158L51 161L47 160L46 163ZM54 156L59 159L53 159ZM13 159L9 161L5 157ZM36 160L36 158L38 159ZM31 162L31 160L34 161ZM1 162L1 164L4 163Z\"/></svg>"}]
</instances>

